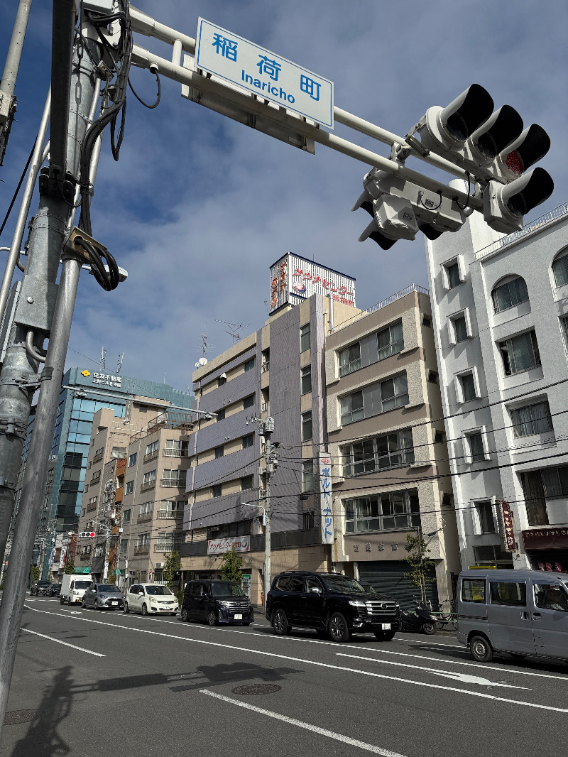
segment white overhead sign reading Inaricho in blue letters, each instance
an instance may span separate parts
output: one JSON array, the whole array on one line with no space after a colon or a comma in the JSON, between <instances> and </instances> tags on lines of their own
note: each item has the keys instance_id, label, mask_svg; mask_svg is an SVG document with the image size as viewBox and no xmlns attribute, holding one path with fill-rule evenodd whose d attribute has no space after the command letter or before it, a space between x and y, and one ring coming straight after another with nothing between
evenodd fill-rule
<instances>
[{"instance_id":1,"label":"white overhead sign reading Inaricho in blue letters","mask_svg":"<svg viewBox=\"0 0 568 757\"><path fill-rule=\"evenodd\" d=\"M200 18L195 65L333 128L333 82Z\"/></svg>"}]
</instances>

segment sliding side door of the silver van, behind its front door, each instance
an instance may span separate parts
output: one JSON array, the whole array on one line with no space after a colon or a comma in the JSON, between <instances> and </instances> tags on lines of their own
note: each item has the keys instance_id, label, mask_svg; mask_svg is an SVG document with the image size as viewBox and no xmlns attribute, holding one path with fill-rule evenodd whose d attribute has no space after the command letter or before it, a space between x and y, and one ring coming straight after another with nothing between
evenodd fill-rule
<instances>
[{"instance_id":1,"label":"sliding side door of the silver van, behind its front door","mask_svg":"<svg viewBox=\"0 0 568 757\"><path fill-rule=\"evenodd\" d=\"M489 580L489 638L495 650L535 654L532 600L527 581Z\"/></svg>"}]
</instances>

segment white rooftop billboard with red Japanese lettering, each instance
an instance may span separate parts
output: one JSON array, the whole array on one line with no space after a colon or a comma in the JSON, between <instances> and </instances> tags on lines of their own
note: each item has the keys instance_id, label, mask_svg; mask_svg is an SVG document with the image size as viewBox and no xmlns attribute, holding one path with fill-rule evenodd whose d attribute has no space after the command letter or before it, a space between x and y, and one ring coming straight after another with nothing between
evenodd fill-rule
<instances>
[{"instance_id":1,"label":"white rooftop billboard with red Japanese lettering","mask_svg":"<svg viewBox=\"0 0 568 757\"><path fill-rule=\"evenodd\" d=\"M270 313L283 305L298 305L312 294L355 307L355 279L291 252L270 266Z\"/></svg>"}]
</instances>

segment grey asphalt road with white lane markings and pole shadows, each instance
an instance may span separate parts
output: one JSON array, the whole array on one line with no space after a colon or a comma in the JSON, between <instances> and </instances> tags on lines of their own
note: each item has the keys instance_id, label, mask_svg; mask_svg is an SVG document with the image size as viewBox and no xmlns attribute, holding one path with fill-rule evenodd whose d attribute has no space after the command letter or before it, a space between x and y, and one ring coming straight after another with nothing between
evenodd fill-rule
<instances>
[{"instance_id":1,"label":"grey asphalt road with white lane markings and pole shadows","mask_svg":"<svg viewBox=\"0 0 568 757\"><path fill-rule=\"evenodd\" d=\"M0 755L558 757L567 721L568 666L476 663L451 636L336 644L33 597Z\"/></svg>"}]
</instances>

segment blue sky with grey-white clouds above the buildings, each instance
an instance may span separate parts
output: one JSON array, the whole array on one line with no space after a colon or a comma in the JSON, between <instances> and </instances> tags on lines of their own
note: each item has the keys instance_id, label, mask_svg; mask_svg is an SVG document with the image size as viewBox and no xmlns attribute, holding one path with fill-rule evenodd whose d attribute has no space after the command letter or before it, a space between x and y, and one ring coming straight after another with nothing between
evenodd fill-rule
<instances>
[{"instance_id":1,"label":"blue sky with grey-white clouds above the buildings","mask_svg":"<svg viewBox=\"0 0 568 757\"><path fill-rule=\"evenodd\" d=\"M0 64L17 11L0 0ZM495 107L517 108L539 123L552 147L541 165L554 179L551 198L526 222L568 201L565 33L560 0L138 0L161 23L195 37L204 17L331 79L335 105L404 134L431 105L446 105L471 83ZM170 58L171 48L139 34L135 42ZM0 167L0 216L11 200L39 125L51 70L51 2L33 0L16 95L17 123ZM133 70L148 102L156 84ZM370 218L350 208L368 167L316 145L298 150L181 97L161 78L161 103L142 107L129 94L126 135L116 163L105 132L92 201L93 235L128 270L112 292L83 273L67 367L106 370L187 391L206 333L211 359L233 343L220 321L264 326L270 264L292 251L357 279L367 309L410 283L427 285L423 237L382 251L357 241ZM334 133L383 155L389 148L335 125ZM418 160L408 166L432 170ZM445 182L452 176L439 174ZM17 207L17 206L16 206ZM37 207L33 199L31 214ZM16 210L0 246L9 246ZM458 232L459 233L459 232ZM4 255L5 253L0 253ZM98 366L100 369L100 365Z\"/></svg>"}]
</instances>

